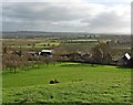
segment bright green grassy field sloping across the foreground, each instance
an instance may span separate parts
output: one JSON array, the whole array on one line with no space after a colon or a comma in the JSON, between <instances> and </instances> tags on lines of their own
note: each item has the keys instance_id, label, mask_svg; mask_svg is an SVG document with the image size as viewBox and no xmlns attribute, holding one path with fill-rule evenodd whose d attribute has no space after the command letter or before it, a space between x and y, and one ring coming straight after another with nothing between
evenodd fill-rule
<instances>
[{"instance_id":1,"label":"bright green grassy field sloping across the foreground","mask_svg":"<svg viewBox=\"0 0 133 105\"><path fill-rule=\"evenodd\" d=\"M3 103L131 103L131 70L117 66L57 63L4 71L2 82Z\"/></svg>"}]
</instances>

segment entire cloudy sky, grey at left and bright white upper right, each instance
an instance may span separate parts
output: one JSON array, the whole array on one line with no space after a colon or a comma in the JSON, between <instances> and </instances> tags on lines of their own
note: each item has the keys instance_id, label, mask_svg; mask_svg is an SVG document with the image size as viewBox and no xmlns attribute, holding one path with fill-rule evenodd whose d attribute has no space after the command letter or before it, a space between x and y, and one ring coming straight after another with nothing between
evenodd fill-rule
<instances>
[{"instance_id":1,"label":"entire cloudy sky, grey at left and bright white upper right","mask_svg":"<svg viewBox=\"0 0 133 105\"><path fill-rule=\"evenodd\" d=\"M2 30L130 33L131 1L4 0Z\"/></svg>"}]
</instances>

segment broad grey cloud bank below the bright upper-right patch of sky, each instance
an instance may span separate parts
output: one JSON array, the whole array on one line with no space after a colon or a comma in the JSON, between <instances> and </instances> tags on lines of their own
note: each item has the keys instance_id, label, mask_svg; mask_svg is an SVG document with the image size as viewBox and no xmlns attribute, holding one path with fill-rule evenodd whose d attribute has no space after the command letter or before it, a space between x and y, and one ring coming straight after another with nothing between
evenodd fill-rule
<instances>
[{"instance_id":1,"label":"broad grey cloud bank below the bright upper-right patch of sky","mask_svg":"<svg viewBox=\"0 0 133 105\"><path fill-rule=\"evenodd\" d=\"M94 6L94 4L93 4ZM130 28L130 21L115 12L99 12L93 6L72 7L62 3L4 3L3 30L115 32ZM110 7L111 8L111 7ZM93 15L93 12L99 12Z\"/></svg>"}]
</instances>

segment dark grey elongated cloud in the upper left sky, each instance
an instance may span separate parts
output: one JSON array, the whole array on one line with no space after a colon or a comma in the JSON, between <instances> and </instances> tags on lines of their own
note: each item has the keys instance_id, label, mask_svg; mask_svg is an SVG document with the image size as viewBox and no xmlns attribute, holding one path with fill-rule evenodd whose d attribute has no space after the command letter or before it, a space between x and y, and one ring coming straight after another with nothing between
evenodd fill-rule
<instances>
[{"instance_id":1,"label":"dark grey elongated cloud in the upper left sky","mask_svg":"<svg viewBox=\"0 0 133 105\"><path fill-rule=\"evenodd\" d=\"M7 6L7 4L4 4ZM40 10L35 10L40 8ZM42 9L41 9L42 8ZM49 3L12 3L3 7L3 15L10 19L20 19L24 21L63 21L74 20L82 15L70 12L65 7L55 7Z\"/></svg>"}]
</instances>

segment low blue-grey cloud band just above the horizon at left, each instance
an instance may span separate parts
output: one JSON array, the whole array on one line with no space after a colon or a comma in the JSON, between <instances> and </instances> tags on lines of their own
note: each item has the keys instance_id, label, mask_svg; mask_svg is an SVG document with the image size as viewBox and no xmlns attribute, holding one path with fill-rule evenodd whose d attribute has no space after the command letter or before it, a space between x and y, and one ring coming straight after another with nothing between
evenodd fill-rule
<instances>
[{"instance_id":1,"label":"low blue-grey cloud band just above the horizon at left","mask_svg":"<svg viewBox=\"0 0 133 105\"><path fill-rule=\"evenodd\" d=\"M13 27L12 27L13 25ZM34 22L4 22L3 30L9 31L82 31L82 25L69 25L69 24L53 24L49 21L34 21Z\"/></svg>"}]
</instances>

